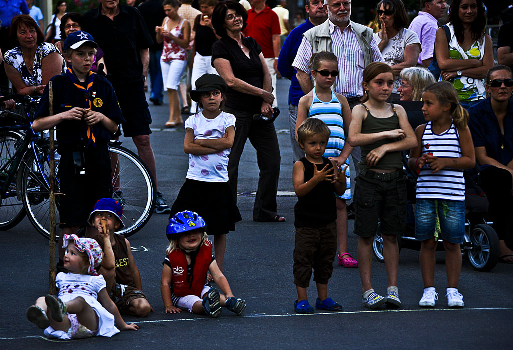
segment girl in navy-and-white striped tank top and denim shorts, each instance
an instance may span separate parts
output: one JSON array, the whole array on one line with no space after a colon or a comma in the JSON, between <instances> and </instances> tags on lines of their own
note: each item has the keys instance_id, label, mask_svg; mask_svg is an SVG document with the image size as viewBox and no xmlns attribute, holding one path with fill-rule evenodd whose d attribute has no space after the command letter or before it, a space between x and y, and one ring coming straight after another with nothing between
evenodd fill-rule
<instances>
[{"instance_id":1,"label":"girl in navy-and-white striped tank top and denim shorts","mask_svg":"<svg viewBox=\"0 0 513 350\"><path fill-rule=\"evenodd\" d=\"M420 307L435 307L435 252L438 237L445 248L447 304L462 308L458 291L461 250L465 234L465 179L463 170L476 164L468 113L448 82L431 84L422 94L427 124L416 130L419 145L410 152L408 167L420 170L417 179L415 238L422 240L420 266L424 294Z\"/></svg>"}]
</instances>

